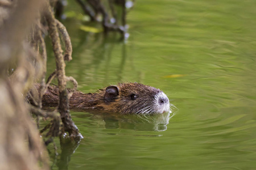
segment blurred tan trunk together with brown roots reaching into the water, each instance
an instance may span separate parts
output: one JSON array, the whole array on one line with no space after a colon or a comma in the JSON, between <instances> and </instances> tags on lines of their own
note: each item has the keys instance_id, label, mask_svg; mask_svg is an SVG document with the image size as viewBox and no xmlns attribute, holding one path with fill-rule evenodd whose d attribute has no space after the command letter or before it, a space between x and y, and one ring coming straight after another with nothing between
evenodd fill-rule
<instances>
[{"instance_id":1,"label":"blurred tan trunk together with brown roots reaching into the water","mask_svg":"<svg viewBox=\"0 0 256 170\"><path fill-rule=\"evenodd\" d=\"M54 137L62 138L65 132L69 133L67 137L73 141L82 138L68 108L69 97L77 88L76 80L65 76L64 60L72 59L71 40L64 25L55 19L49 2L44 2L0 0L0 14L2 10L5 12L5 15L0 15L0 125L3 129L3 138L0 138L0 169L49 168L46 148L28 113L36 116L38 128L41 117L51 119L50 124L40 131L41 134L46 132L45 144L52 142ZM47 28L55 53L56 70L46 81L44 36ZM65 45L64 54L60 37ZM60 89L59 113L42 110L42 97L55 77ZM30 91L38 79L39 91ZM68 81L73 83L71 92L67 91ZM35 106L28 105L25 96Z\"/></svg>"}]
</instances>

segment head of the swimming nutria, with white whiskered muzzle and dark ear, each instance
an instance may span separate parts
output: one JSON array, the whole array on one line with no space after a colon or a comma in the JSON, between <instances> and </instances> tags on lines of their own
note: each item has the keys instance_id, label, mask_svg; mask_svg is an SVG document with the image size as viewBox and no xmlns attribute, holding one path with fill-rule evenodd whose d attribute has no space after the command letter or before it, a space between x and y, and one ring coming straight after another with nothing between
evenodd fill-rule
<instances>
[{"instance_id":1,"label":"head of the swimming nutria, with white whiskered muzzle and dark ear","mask_svg":"<svg viewBox=\"0 0 256 170\"><path fill-rule=\"evenodd\" d=\"M164 113L170 111L169 99L151 86L123 83L105 89L105 109L120 113Z\"/></svg>"}]
</instances>

